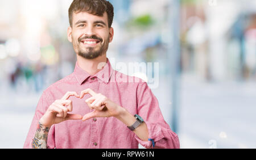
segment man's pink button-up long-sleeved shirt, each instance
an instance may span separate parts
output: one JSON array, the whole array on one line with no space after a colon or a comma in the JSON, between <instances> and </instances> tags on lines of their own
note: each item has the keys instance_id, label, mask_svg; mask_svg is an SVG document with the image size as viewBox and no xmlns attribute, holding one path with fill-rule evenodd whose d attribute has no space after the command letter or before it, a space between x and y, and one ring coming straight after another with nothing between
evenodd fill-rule
<instances>
[{"instance_id":1,"label":"man's pink button-up long-sleeved shirt","mask_svg":"<svg viewBox=\"0 0 256 160\"><path fill-rule=\"evenodd\" d=\"M154 148L180 148L177 134L164 121L158 100L147 83L114 70L109 60L107 65L95 75L86 73L76 63L72 74L44 90L23 148L32 148L32 138L35 136L37 124L56 99L61 99L67 91L76 91L80 94L82 90L88 88L105 95L119 106L126 108L132 115L140 115L147 124L149 138L155 144ZM84 116L91 112L84 102L89 97L89 94L83 99L71 96L69 98L73 103L71 113ZM101 117L86 121L68 120L52 125L49 129L47 145L49 148L136 149L138 144L144 148L153 148L152 140L140 140L115 117Z\"/></svg>"}]
</instances>

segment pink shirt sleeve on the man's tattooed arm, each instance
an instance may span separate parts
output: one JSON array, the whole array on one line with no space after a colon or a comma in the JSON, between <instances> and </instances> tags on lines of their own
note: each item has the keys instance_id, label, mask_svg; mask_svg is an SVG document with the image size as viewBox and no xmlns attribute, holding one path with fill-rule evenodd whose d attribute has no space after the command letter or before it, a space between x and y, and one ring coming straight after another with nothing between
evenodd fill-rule
<instances>
[{"instance_id":1,"label":"pink shirt sleeve on the man's tattooed arm","mask_svg":"<svg viewBox=\"0 0 256 160\"><path fill-rule=\"evenodd\" d=\"M32 139L35 136L36 128L39 123L40 118L44 115L47 108L53 103L52 96L47 95L44 91L42 96L39 99L38 106L36 107L35 115L32 119L30 129L28 130L27 138L24 142L24 149L32 149ZM54 126L49 129L47 145L48 148L55 148L54 140Z\"/></svg>"}]
</instances>

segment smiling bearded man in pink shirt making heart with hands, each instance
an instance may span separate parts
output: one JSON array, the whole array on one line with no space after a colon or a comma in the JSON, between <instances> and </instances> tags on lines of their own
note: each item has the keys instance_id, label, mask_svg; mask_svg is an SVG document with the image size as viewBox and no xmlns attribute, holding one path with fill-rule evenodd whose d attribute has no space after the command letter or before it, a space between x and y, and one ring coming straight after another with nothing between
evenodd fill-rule
<instances>
[{"instance_id":1,"label":"smiling bearded man in pink shirt making heart with hands","mask_svg":"<svg viewBox=\"0 0 256 160\"><path fill-rule=\"evenodd\" d=\"M72 2L68 40L75 70L43 92L24 148L180 147L147 83L112 69L106 51L113 16L108 1Z\"/></svg>"}]
</instances>

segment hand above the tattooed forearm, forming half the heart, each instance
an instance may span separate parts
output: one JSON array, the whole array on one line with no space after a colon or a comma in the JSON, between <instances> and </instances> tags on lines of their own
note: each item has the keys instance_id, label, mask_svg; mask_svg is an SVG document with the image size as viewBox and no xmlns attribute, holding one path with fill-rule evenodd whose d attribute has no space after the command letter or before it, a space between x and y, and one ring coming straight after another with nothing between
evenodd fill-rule
<instances>
[{"instance_id":1,"label":"hand above the tattooed forearm, forming half the heart","mask_svg":"<svg viewBox=\"0 0 256 160\"><path fill-rule=\"evenodd\" d=\"M72 100L68 100L69 96L80 98L76 92L67 92L63 98L55 100L55 102L49 106L39 122L45 127L51 127L53 124L61 123L65 120L82 119L81 115L68 113L73 110Z\"/></svg>"}]
</instances>

